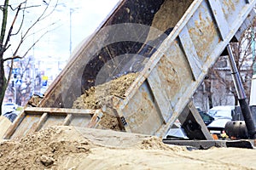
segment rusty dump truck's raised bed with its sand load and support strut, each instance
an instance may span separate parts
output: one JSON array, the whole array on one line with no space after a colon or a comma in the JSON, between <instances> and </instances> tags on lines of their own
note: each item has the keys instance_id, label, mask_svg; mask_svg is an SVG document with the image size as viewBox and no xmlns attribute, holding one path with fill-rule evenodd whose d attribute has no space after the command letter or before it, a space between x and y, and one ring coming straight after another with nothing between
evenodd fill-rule
<instances>
[{"instance_id":1,"label":"rusty dump truck's raised bed with its sand load and support strut","mask_svg":"<svg viewBox=\"0 0 256 170\"><path fill-rule=\"evenodd\" d=\"M189 139L211 140L191 98L230 41L253 24L255 3L120 0L3 139L55 125L164 138L178 120Z\"/></svg>"}]
</instances>

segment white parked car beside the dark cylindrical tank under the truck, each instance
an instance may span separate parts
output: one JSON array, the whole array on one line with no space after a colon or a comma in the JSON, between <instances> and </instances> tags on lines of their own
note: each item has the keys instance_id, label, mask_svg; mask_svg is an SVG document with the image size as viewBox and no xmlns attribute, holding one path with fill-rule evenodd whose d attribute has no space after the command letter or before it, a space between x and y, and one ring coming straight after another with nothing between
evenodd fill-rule
<instances>
[{"instance_id":1,"label":"white parked car beside the dark cylindrical tank under the truck","mask_svg":"<svg viewBox=\"0 0 256 170\"><path fill-rule=\"evenodd\" d=\"M235 106L221 105L212 107L208 111L208 115L212 116L214 120L207 125L208 130L212 134L217 134L218 138L223 138L225 135L224 127L227 122L232 120L235 114Z\"/></svg>"}]
</instances>

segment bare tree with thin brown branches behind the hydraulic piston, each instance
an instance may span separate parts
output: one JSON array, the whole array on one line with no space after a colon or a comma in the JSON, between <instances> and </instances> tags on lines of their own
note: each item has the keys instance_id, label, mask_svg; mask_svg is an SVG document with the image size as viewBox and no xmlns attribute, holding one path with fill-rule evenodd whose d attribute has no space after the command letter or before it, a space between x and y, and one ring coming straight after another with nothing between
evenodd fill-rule
<instances>
[{"instance_id":1,"label":"bare tree with thin brown branches behind the hydraulic piston","mask_svg":"<svg viewBox=\"0 0 256 170\"><path fill-rule=\"evenodd\" d=\"M251 78L253 77L253 64L255 63L251 48L253 40L252 33L253 29L249 27L238 42L230 43L236 60L236 66L241 76L241 82L247 94L247 99L249 99L250 96L250 84ZM223 64L224 62L225 64ZM218 83L212 84L213 80ZM233 94L235 99L234 105L238 105L236 88L233 80L231 79L231 72L227 57L221 56L218 58L212 68L209 69L207 77L204 79L204 85L206 87L204 93L208 96L210 108L213 106L212 103L217 105L226 105L227 99L224 98L227 96L227 94ZM215 90L215 93L218 93L219 95L218 99L214 99L214 97L212 97L212 88L218 89ZM219 90L221 90L221 92L219 92ZM223 97L220 95L223 95Z\"/></svg>"}]
</instances>

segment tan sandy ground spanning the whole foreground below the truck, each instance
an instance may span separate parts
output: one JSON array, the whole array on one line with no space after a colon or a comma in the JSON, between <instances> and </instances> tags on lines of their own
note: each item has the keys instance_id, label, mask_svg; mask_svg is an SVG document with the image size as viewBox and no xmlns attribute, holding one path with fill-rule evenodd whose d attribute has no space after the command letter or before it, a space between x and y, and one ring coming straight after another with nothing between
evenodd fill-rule
<instances>
[{"instance_id":1,"label":"tan sandy ground spanning the whole foreground below the truck","mask_svg":"<svg viewBox=\"0 0 256 170\"><path fill-rule=\"evenodd\" d=\"M161 139L81 127L50 127L0 144L1 169L256 169L256 150L187 150Z\"/></svg>"}]
</instances>

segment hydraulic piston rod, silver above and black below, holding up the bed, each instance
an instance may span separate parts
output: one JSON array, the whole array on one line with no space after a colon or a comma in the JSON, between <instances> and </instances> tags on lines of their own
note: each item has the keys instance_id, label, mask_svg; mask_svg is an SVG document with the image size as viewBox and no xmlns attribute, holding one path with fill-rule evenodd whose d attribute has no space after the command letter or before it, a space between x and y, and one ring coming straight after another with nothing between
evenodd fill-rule
<instances>
[{"instance_id":1,"label":"hydraulic piston rod, silver above and black below, holding up the bed","mask_svg":"<svg viewBox=\"0 0 256 170\"><path fill-rule=\"evenodd\" d=\"M236 93L237 93L237 96L238 96L238 101L239 101L239 104L240 104L240 107L241 107L241 113L242 113L242 116L244 117L244 121L246 123L249 138L250 139L255 139L256 131L255 131L255 126L254 126L254 122L253 122L253 115L252 115L252 112L249 108L249 105L247 104L247 96L245 94L244 88L243 88L242 83L241 83L241 77L240 77L239 72L237 70L236 62L235 62L230 44L227 45L227 50L228 50L228 53L229 53L231 74L232 74L232 78L233 78L233 81L234 81L234 84L235 84Z\"/></svg>"}]
</instances>

